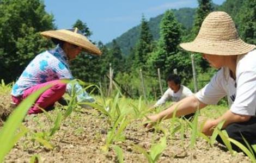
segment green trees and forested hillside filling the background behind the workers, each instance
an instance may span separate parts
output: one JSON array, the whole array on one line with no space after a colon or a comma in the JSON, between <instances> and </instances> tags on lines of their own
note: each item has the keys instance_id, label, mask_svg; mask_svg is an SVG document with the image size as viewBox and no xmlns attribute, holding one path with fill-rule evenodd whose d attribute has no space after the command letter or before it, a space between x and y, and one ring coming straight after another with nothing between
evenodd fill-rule
<instances>
[{"instance_id":1,"label":"green trees and forested hillside filling the background behind the workers","mask_svg":"<svg viewBox=\"0 0 256 163\"><path fill-rule=\"evenodd\" d=\"M182 82L193 89L191 53L182 51L179 43L194 39L209 12L227 12L235 21L242 39L256 43L256 0L227 0L220 6L210 0L198 0L198 4L196 9L167 10L149 21L142 15L141 24L111 44L94 42L102 51L101 57L82 53L71 62L73 75L85 82L107 87L111 63L119 86L132 97L139 97L142 95L139 70L142 70L147 96L153 97L154 92L155 97L159 97L157 68L160 68L163 84L167 74L176 69L183 78ZM0 15L0 78L10 83L20 76L36 54L53 47L52 42L39 33L57 26L54 15L45 11L44 2L40 0L1 0ZM86 22L77 20L72 26L78 27L90 39L92 31ZM200 88L209 81L214 70L199 55L195 57Z\"/></svg>"}]
</instances>

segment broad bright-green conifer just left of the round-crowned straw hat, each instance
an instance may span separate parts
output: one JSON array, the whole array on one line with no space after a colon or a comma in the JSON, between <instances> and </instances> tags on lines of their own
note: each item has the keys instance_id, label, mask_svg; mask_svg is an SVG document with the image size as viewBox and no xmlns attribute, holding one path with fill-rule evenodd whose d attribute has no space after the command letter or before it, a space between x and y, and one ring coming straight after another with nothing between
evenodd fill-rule
<instances>
[{"instance_id":1,"label":"broad bright-green conifer just left of the round-crowned straw hat","mask_svg":"<svg viewBox=\"0 0 256 163\"><path fill-rule=\"evenodd\" d=\"M178 52L178 45L181 37L181 24L176 20L173 12L167 10L164 13L160 24L160 39L157 43L156 51L150 54L148 66L150 72L156 74L157 68L160 68L164 76L172 71L175 65L170 59L170 55Z\"/></svg>"}]
</instances>

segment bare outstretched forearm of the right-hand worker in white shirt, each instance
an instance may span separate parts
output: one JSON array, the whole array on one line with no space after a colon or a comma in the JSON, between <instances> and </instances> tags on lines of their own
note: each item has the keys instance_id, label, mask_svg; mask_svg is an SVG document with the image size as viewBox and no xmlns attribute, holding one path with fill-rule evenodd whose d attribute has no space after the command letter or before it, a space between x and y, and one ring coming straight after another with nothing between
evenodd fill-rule
<instances>
[{"instance_id":1,"label":"bare outstretched forearm of the right-hand worker in white shirt","mask_svg":"<svg viewBox=\"0 0 256 163\"><path fill-rule=\"evenodd\" d=\"M198 101L198 99L196 97L190 96L190 97L184 98L181 101L173 104L168 109L160 112L157 116L159 117L159 119L172 118L173 114L176 110L175 116L179 117L182 115L187 115L192 112L195 112L197 109L201 109L204 106L206 106L206 104Z\"/></svg>"}]
</instances>

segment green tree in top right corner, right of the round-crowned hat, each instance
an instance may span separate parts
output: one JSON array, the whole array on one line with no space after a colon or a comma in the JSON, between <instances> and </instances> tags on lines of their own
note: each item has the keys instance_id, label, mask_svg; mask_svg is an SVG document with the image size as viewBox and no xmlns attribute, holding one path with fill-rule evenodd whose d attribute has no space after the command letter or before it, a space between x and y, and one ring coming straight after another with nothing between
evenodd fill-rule
<instances>
[{"instance_id":1,"label":"green tree in top right corner, right of the round-crowned hat","mask_svg":"<svg viewBox=\"0 0 256 163\"><path fill-rule=\"evenodd\" d=\"M239 33L247 43L256 45L256 0L245 0L237 14Z\"/></svg>"}]
</instances>

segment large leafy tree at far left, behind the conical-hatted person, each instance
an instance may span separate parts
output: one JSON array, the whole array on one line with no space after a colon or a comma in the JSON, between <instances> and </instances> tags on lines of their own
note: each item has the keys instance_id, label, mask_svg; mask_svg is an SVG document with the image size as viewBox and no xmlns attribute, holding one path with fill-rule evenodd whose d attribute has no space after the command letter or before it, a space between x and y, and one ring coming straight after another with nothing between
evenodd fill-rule
<instances>
[{"instance_id":1,"label":"large leafy tree at far left, behind the conical-hatted person","mask_svg":"<svg viewBox=\"0 0 256 163\"><path fill-rule=\"evenodd\" d=\"M0 72L11 82L36 54L52 46L39 32L54 29L53 15L40 0L2 0L0 15Z\"/></svg>"}]
</instances>

